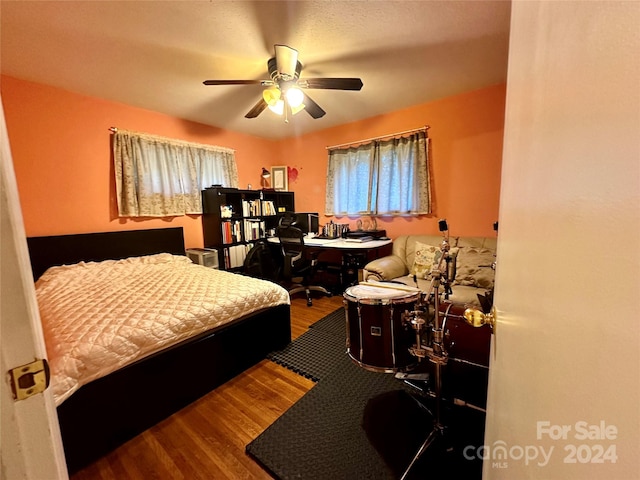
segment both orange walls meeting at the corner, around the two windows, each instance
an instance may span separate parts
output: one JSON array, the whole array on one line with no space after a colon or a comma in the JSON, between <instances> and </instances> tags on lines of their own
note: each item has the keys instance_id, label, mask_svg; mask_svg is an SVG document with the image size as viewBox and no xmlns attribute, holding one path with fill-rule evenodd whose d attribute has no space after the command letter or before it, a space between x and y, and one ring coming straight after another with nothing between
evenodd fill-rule
<instances>
[{"instance_id":1,"label":"both orange walls meeting at the corner, around the two windows","mask_svg":"<svg viewBox=\"0 0 640 480\"><path fill-rule=\"evenodd\" d=\"M239 186L260 185L262 166L298 171L289 189L298 211L324 211L326 146L430 125L434 213L378 219L392 238L436 233L493 235L498 218L505 85L399 110L296 138L270 141L41 84L2 77L2 102L27 235L182 226L187 247L202 246L200 216L121 219L114 198L109 127L236 150ZM328 115L330 112L328 113ZM355 227L356 219L336 218ZM321 222L322 223L322 222Z\"/></svg>"}]
</instances>

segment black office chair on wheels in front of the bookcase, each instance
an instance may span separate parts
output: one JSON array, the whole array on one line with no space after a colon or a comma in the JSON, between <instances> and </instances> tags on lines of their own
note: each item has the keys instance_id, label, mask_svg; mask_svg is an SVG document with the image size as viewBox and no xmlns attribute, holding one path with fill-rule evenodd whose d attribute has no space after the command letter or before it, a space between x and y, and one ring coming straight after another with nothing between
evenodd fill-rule
<instances>
[{"instance_id":1,"label":"black office chair on wheels in front of the bookcase","mask_svg":"<svg viewBox=\"0 0 640 480\"><path fill-rule=\"evenodd\" d=\"M299 292L305 292L307 295L307 306L313 305L311 301L311 292L320 292L331 296L326 288L319 285L310 285L311 277L316 272L318 263L317 256L310 255L305 252L304 233L295 225L280 222L277 229L277 236L280 240L280 248L284 257L284 265L282 268L282 276L288 282L289 296ZM305 255L305 253L307 253Z\"/></svg>"}]
</instances>

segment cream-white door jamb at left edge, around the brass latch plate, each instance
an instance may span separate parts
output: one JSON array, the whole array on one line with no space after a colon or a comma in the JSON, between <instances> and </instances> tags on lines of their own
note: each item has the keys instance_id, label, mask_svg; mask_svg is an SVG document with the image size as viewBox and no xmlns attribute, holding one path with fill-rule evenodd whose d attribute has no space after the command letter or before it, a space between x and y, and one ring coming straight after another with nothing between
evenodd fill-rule
<instances>
[{"instance_id":1,"label":"cream-white door jamb at left edge, around the brass latch plate","mask_svg":"<svg viewBox=\"0 0 640 480\"><path fill-rule=\"evenodd\" d=\"M8 382L7 372L10 369L46 358L46 351L2 108L0 163L1 478L64 479L68 475L51 393L45 390L42 394L14 401Z\"/></svg>"}]
</instances>

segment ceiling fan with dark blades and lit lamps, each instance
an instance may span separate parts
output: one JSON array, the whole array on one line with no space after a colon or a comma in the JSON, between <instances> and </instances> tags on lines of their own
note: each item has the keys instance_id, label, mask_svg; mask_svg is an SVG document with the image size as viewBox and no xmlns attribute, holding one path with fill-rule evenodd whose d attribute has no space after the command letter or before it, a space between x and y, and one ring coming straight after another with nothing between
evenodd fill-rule
<instances>
[{"instance_id":1,"label":"ceiling fan with dark blades and lit lamps","mask_svg":"<svg viewBox=\"0 0 640 480\"><path fill-rule=\"evenodd\" d=\"M313 118L320 118L325 111L314 102L303 89L360 90L359 78L300 78L302 64L298 61L298 51L286 45L275 45L275 56L267 62L270 80L205 80L205 85L262 85L267 87L262 98L245 115L256 118L269 107L284 121L289 122L289 114L306 110Z\"/></svg>"}]
</instances>

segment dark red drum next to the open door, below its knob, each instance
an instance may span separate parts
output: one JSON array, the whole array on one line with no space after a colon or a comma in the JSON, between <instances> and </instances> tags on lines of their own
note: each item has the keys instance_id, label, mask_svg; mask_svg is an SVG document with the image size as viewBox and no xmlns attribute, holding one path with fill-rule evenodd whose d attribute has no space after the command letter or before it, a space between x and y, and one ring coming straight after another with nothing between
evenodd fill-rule
<instances>
[{"instance_id":1,"label":"dark red drum next to the open door, below its knob","mask_svg":"<svg viewBox=\"0 0 640 480\"><path fill-rule=\"evenodd\" d=\"M444 331L444 348L449 359L489 367L491 327L472 327L464 319L466 305L442 302L440 322Z\"/></svg>"}]
</instances>

